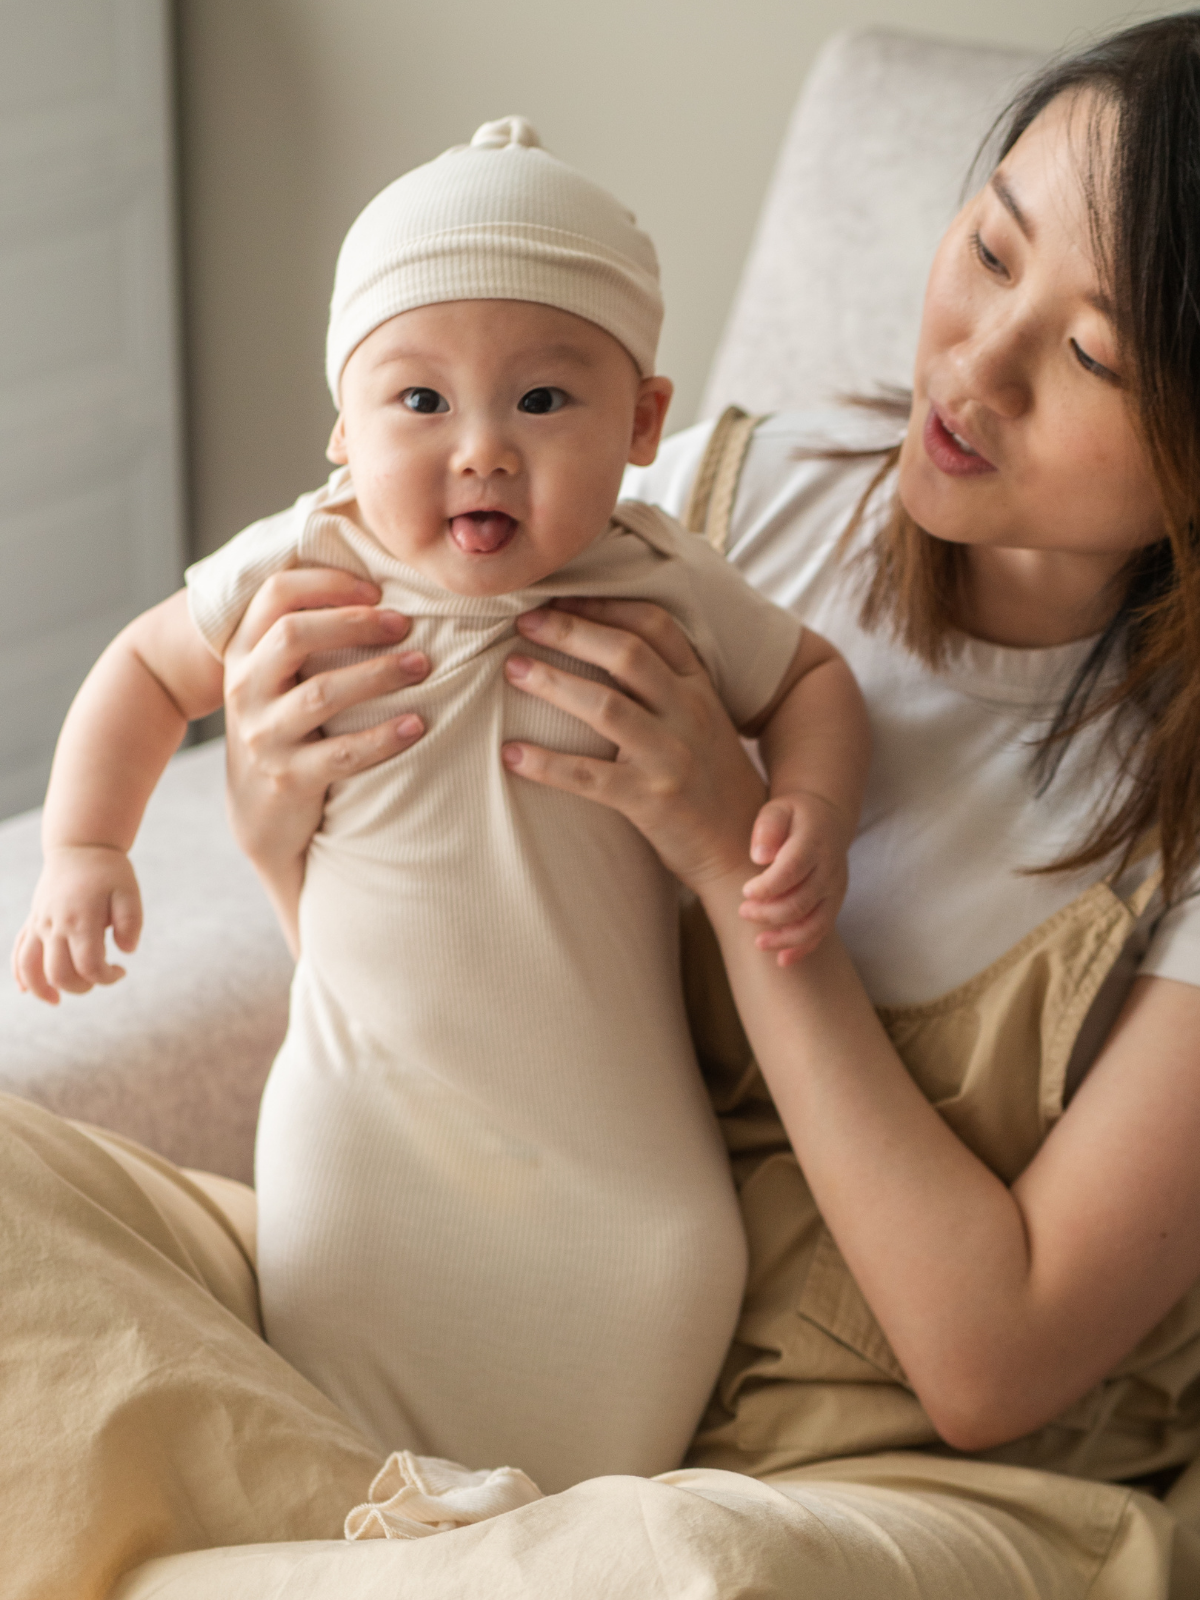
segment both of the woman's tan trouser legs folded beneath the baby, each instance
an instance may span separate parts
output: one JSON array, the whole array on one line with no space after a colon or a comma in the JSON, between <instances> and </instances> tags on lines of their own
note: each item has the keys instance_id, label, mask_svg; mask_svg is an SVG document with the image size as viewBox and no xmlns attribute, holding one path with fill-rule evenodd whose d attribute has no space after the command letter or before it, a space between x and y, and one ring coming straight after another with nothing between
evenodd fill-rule
<instances>
[{"instance_id":1,"label":"both of the woman's tan trouser legs folded beneath the baby","mask_svg":"<svg viewBox=\"0 0 1200 1600\"><path fill-rule=\"evenodd\" d=\"M595 1478L344 1542L381 1462L258 1333L250 1195L8 1096L0 1174L3 1600L1200 1594L1200 1546L1147 1496L917 1453Z\"/></svg>"}]
</instances>

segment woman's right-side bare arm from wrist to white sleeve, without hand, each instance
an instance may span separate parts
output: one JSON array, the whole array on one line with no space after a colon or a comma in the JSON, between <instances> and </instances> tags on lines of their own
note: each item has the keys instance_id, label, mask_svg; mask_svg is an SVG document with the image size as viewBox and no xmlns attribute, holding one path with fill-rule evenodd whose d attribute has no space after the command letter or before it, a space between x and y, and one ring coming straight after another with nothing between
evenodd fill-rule
<instances>
[{"instance_id":1,"label":"woman's right-side bare arm from wrist to white sleeve, without hand","mask_svg":"<svg viewBox=\"0 0 1200 1600\"><path fill-rule=\"evenodd\" d=\"M1093 1387L1200 1277L1200 990L1134 984L1011 1189L906 1072L837 939L778 973L702 896L816 1203L930 1418L984 1450Z\"/></svg>"}]
</instances>

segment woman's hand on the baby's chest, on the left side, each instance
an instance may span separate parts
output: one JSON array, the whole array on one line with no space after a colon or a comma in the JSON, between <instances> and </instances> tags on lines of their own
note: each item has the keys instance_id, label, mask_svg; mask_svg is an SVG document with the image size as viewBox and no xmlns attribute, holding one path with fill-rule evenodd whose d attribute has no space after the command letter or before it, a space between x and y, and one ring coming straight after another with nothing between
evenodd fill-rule
<instances>
[{"instance_id":1,"label":"woman's hand on the baby's chest, on the left side","mask_svg":"<svg viewBox=\"0 0 1200 1600\"><path fill-rule=\"evenodd\" d=\"M293 954L304 853L330 784L398 755L424 733L411 714L363 733L330 739L320 733L347 706L427 677L429 659L419 651L381 651L301 682L317 651L395 645L408 634L408 618L381 611L378 602L374 584L336 568L277 573L251 600L226 651L230 827Z\"/></svg>"}]
</instances>

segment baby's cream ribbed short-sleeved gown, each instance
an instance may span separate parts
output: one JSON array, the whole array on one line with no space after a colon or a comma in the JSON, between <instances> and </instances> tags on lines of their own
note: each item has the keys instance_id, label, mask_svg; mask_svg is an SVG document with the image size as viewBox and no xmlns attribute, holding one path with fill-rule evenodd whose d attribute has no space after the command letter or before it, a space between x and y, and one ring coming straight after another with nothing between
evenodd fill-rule
<instances>
[{"instance_id":1,"label":"baby's cream ribbed short-sleeved gown","mask_svg":"<svg viewBox=\"0 0 1200 1600\"><path fill-rule=\"evenodd\" d=\"M218 650L269 570L334 562L370 573L414 619L403 648L434 661L330 723L411 707L427 733L334 784L309 854L259 1123L267 1334L382 1450L520 1467L546 1491L661 1472L733 1334L742 1229L680 1000L675 886L614 811L504 770L506 738L611 747L502 662L531 648L514 618L552 594L642 595L744 722L800 627L646 506L536 589L475 598L382 552L350 496L336 474L189 573Z\"/></svg>"}]
</instances>

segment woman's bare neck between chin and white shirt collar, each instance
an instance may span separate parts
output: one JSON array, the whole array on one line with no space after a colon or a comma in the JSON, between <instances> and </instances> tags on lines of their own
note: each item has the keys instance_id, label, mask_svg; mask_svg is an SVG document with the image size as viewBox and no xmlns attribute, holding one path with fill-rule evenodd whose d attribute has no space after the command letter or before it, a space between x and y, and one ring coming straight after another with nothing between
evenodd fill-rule
<instances>
[{"instance_id":1,"label":"woman's bare neck between chin and white shirt collar","mask_svg":"<svg viewBox=\"0 0 1200 1600\"><path fill-rule=\"evenodd\" d=\"M1014 650L1070 645L1099 634L1120 605L1126 550L965 549L958 626Z\"/></svg>"}]
</instances>

